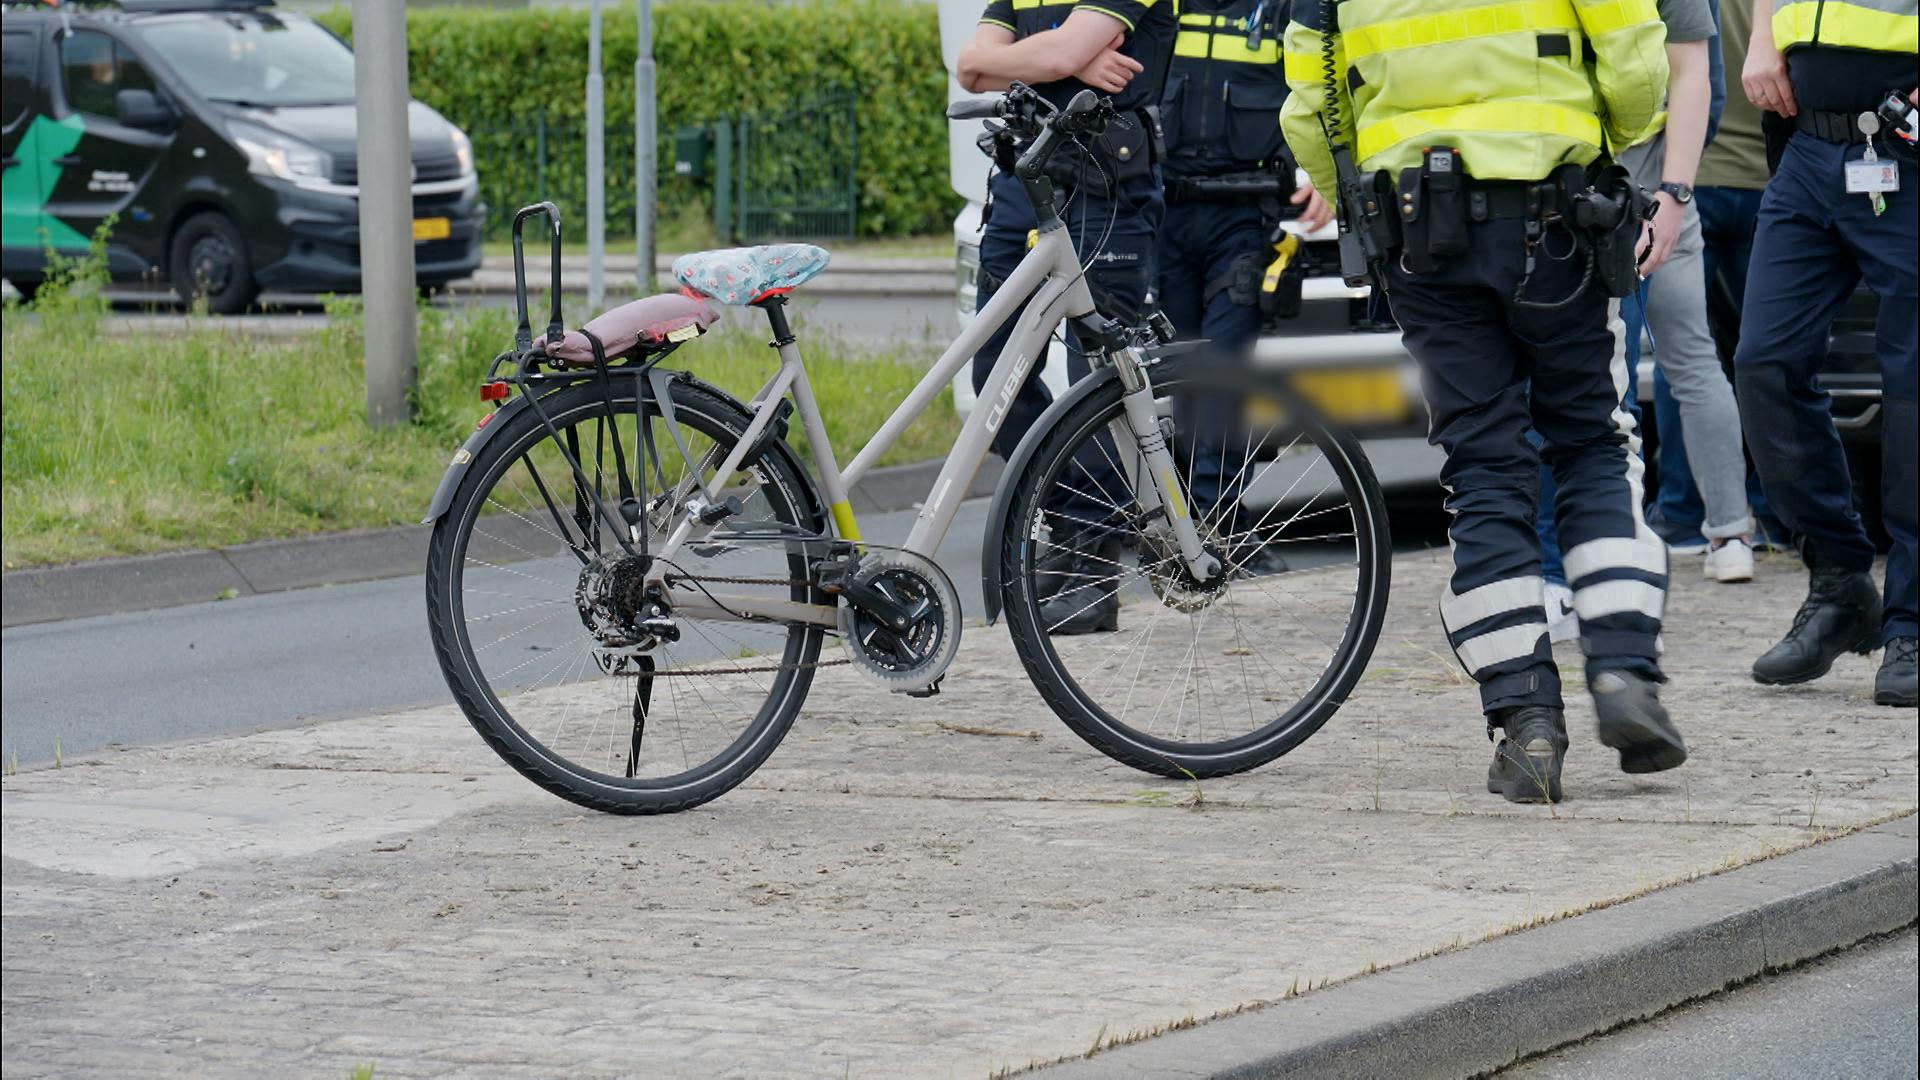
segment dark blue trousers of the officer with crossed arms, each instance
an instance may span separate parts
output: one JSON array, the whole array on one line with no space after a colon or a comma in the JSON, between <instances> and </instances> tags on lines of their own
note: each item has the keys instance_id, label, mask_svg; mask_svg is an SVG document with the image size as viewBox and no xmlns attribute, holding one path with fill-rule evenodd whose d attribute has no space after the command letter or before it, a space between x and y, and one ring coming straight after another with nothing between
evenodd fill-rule
<instances>
[{"instance_id":1,"label":"dark blue trousers of the officer with crossed arms","mask_svg":"<svg viewBox=\"0 0 1920 1080\"><path fill-rule=\"evenodd\" d=\"M1027 233L1035 227L1033 208L1027 206L1027 192L1018 179L995 171L989 190L993 209L979 242L979 263L993 277L993 282L983 282L979 307L987 306L996 284L1006 281L1020 259L1027 256ZM1139 321L1148 286L1154 281L1154 231L1160 227L1162 209L1158 179L1152 184L1139 184L1139 190L1123 192L1117 202L1081 194L1068 206L1064 215L1068 234L1079 250L1081 261L1091 259L1087 277L1104 290L1104 298L1116 307L1102 309L1102 315L1123 323ZM973 354L973 390L987 382L987 375L1000 359L1000 350L1006 348L1018 323L1020 315L1016 313ZM1041 359L1044 361L1044 357ZM1052 392L1041 382L1041 363L1033 365L1033 373L1014 398L1006 421L993 436L993 452L1002 459L1012 459L1020 440L1054 402ZM1079 382L1089 371L1087 356L1069 331L1068 380ZM1104 442L1106 436L1100 438ZM1114 454L1110 446L1104 448L1104 454L1100 450L1102 446L1089 444L1075 457L1079 475L1066 477L1044 496L1046 507L1068 523L1106 525L1114 513L1127 509L1127 488L1112 465L1117 457L1108 457Z\"/></svg>"}]
</instances>

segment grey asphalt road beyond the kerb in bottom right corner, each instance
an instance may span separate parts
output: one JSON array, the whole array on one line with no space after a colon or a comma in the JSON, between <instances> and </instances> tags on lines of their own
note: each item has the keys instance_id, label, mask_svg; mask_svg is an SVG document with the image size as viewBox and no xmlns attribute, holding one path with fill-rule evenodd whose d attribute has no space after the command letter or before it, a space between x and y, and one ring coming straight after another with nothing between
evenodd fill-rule
<instances>
[{"instance_id":1,"label":"grey asphalt road beyond the kerb in bottom right corner","mask_svg":"<svg viewBox=\"0 0 1920 1080\"><path fill-rule=\"evenodd\" d=\"M1868 942L1501 1072L1501 1080L1820 1080L1920 1068L1920 934Z\"/></svg>"}]
</instances>

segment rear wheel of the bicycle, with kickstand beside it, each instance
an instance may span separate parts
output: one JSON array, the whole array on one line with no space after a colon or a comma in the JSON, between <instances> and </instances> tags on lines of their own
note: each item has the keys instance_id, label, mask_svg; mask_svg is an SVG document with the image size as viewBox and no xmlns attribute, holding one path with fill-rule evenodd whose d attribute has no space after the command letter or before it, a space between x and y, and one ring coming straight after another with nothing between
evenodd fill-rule
<instances>
[{"instance_id":1,"label":"rear wheel of the bicycle, with kickstand beside it","mask_svg":"<svg viewBox=\"0 0 1920 1080\"><path fill-rule=\"evenodd\" d=\"M822 630L672 615L672 634L643 632L647 559L622 552L595 517L616 505L618 471L639 488L647 550L689 513L714 467L745 432L733 400L672 380L678 440L639 379L616 373L540 398L474 455L428 546L426 609L447 686L509 765L541 788L609 813L670 813L745 780L774 751L812 684ZM611 411L609 411L611 396ZM662 469L643 457L653 432ZM622 455L614 454L614 444ZM578 461L582 486L568 457ZM645 461L645 465L643 465ZM666 480L664 490L659 480ZM733 477L739 509L703 528L668 567L674 598L726 592L820 603L806 584L818 500L778 440ZM762 540L735 540L733 534Z\"/></svg>"}]
</instances>

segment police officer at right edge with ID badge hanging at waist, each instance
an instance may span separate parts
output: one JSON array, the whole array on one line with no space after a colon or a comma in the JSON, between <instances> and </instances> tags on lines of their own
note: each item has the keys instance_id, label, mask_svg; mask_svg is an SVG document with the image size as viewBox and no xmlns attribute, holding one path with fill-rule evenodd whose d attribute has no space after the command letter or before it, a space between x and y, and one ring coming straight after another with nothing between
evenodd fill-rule
<instances>
[{"instance_id":1,"label":"police officer at right edge with ID badge hanging at waist","mask_svg":"<svg viewBox=\"0 0 1920 1080\"><path fill-rule=\"evenodd\" d=\"M1741 2L1741 0L1736 0ZM1914 106L1914 0L1753 2L1741 83L1766 110L1778 165L1761 196L1734 377L1766 500L1801 536L1811 582L1786 638L1753 663L1759 682L1820 678L1843 651L1885 646L1874 701L1914 707L1914 250L1920 171L1895 129ZM1882 115L1882 102L1895 104ZM1780 146L1780 136L1786 144ZM1878 163L1872 161L1878 158ZM1891 167L1889 167L1891 163ZM1814 375L1826 332L1866 279L1880 298L1885 594L1853 509L1847 457Z\"/></svg>"}]
</instances>

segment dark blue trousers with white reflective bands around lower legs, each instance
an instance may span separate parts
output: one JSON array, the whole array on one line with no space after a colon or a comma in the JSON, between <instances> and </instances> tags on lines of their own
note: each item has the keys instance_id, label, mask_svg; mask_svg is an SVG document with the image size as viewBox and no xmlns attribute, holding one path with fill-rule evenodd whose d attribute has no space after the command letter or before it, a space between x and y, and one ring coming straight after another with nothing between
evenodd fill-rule
<instances>
[{"instance_id":1,"label":"dark blue trousers with white reflective bands around lower legs","mask_svg":"<svg viewBox=\"0 0 1920 1080\"><path fill-rule=\"evenodd\" d=\"M1582 258L1551 259L1549 248L1559 250L1540 246L1528 300L1567 298L1582 279ZM1542 459L1559 484L1555 523L1588 676L1659 678L1667 605L1667 546L1640 513L1640 438L1620 407L1626 365L1615 361L1607 298L1588 284L1563 307L1515 304L1523 271L1523 225L1507 219L1471 225L1469 252L1438 273L1398 261L1386 271L1421 365L1430 440L1446 450L1453 577L1440 621L1488 713L1561 705L1534 534Z\"/></svg>"}]
</instances>

